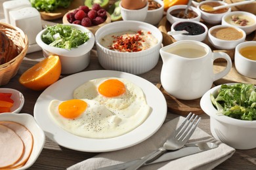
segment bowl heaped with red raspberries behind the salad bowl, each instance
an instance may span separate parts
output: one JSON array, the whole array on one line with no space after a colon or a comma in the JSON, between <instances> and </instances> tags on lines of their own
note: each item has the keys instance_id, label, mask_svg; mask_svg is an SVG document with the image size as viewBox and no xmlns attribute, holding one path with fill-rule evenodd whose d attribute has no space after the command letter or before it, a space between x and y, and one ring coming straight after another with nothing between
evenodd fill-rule
<instances>
[{"instance_id":1,"label":"bowl heaped with red raspberries behind the salad bowl","mask_svg":"<svg viewBox=\"0 0 256 170\"><path fill-rule=\"evenodd\" d=\"M82 25L95 34L100 27L111 22L111 17L110 14L98 4L94 4L91 9L83 5L79 6L78 9L71 10L64 14L62 22L63 24Z\"/></svg>"}]
</instances>

